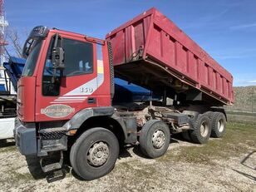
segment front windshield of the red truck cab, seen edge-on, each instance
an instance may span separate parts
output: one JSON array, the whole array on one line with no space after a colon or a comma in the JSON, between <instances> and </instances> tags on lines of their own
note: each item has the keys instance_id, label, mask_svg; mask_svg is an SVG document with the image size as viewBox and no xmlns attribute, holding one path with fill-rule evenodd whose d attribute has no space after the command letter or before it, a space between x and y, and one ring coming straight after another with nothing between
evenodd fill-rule
<instances>
[{"instance_id":1,"label":"front windshield of the red truck cab, seen edge-on","mask_svg":"<svg viewBox=\"0 0 256 192\"><path fill-rule=\"evenodd\" d=\"M37 65L37 58L42 47L42 40L37 40L33 42L32 51L27 57L27 62L24 66L22 76L32 76Z\"/></svg>"}]
</instances>

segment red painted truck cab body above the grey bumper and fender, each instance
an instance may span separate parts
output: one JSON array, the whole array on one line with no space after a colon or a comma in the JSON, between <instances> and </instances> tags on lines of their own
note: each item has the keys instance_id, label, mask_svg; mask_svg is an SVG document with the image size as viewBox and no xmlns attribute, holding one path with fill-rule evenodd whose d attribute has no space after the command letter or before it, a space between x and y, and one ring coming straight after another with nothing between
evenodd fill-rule
<instances>
[{"instance_id":1,"label":"red painted truck cab body above the grey bumper and fender","mask_svg":"<svg viewBox=\"0 0 256 192\"><path fill-rule=\"evenodd\" d=\"M65 53L55 56L60 46ZM81 109L111 106L107 52L105 41L35 27L24 47L27 62L17 84L19 119L27 123L66 121ZM64 54L65 66L55 66L52 55Z\"/></svg>"}]
</instances>

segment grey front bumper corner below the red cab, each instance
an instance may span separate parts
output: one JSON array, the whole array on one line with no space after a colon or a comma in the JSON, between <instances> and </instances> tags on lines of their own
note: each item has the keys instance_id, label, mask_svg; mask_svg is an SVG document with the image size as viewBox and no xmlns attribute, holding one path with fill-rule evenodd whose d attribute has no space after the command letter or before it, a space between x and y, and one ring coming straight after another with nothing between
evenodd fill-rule
<instances>
[{"instance_id":1,"label":"grey front bumper corner below the red cab","mask_svg":"<svg viewBox=\"0 0 256 192\"><path fill-rule=\"evenodd\" d=\"M37 155L36 127L28 128L16 120L14 137L17 148L22 155Z\"/></svg>"}]
</instances>

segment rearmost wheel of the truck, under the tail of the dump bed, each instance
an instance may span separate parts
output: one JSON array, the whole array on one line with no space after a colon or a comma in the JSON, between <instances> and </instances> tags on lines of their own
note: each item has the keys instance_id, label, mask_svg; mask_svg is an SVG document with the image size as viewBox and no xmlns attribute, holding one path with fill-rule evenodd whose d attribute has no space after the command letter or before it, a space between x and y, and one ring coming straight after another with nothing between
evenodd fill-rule
<instances>
[{"instance_id":1,"label":"rearmost wheel of the truck, under the tail of the dump bed","mask_svg":"<svg viewBox=\"0 0 256 192\"><path fill-rule=\"evenodd\" d=\"M214 115L211 120L212 131L211 136L215 138L223 137L226 131L226 117L222 112L214 112Z\"/></svg>"}]
</instances>

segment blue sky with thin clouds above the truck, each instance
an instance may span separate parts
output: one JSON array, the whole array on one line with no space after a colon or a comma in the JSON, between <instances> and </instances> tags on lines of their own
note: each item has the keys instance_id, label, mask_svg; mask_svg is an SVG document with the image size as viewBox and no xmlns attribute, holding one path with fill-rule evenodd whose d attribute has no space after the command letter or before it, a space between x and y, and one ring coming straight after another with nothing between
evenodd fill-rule
<instances>
[{"instance_id":1,"label":"blue sky with thin clouds above the truck","mask_svg":"<svg viewBox=\"0 0 256 192\"><path fill-rule=\"evenodd\" d=\"M256 86L256 0L5 0L9 27L25 34L43 25L104 38L156 7L234 76Z\"/></svg>"}]
</instances>

